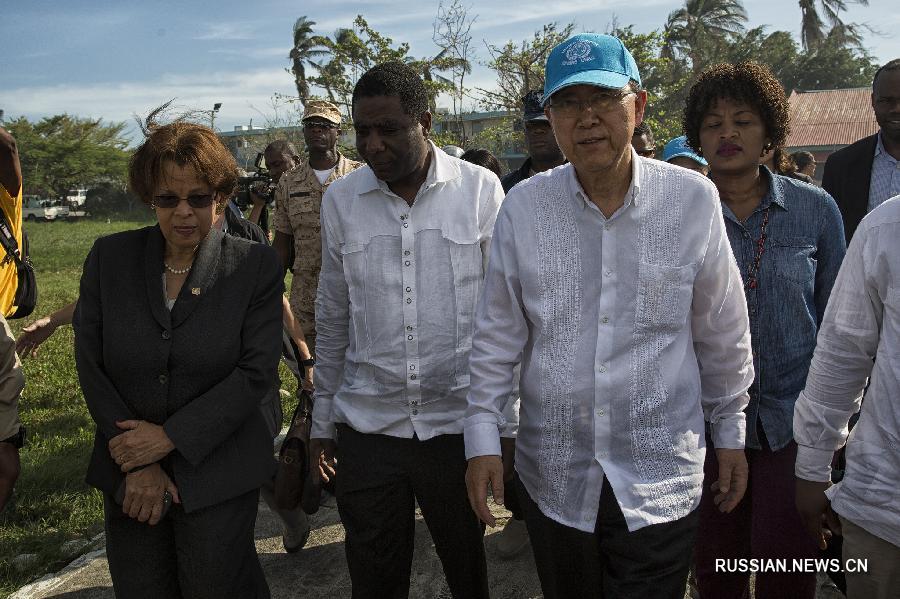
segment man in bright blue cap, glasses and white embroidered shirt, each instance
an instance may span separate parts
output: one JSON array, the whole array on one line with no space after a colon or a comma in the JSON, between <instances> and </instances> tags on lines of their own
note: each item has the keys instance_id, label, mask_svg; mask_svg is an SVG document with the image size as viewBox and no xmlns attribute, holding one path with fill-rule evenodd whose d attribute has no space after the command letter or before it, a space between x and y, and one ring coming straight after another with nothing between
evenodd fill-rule
<instances>
[{"instance_id":1,"label":"man in bright blue cap, glasses and white embroidered shirt","mask_svg":"<svg viewBox=\"0 0 900 599\"><path fill-rule=\"evenodd\" d=\"M469 498L502 499L502 408L521 356L518 478L544 597L684 595L710 427L716 503L746 488L747 307L715 187L641 158L628 50L581 34L547 60L569 164L512 189L476 312Z\"/></svg>"}]
</instances>

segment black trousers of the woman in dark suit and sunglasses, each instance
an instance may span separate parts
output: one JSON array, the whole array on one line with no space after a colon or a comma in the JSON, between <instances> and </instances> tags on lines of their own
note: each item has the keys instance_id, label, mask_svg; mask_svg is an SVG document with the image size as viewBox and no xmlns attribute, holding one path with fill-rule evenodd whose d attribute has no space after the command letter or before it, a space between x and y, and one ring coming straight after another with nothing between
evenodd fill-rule
<instances>
[{"instance_id":1,"label":"black trousers of the woman in dark suit and sunglasses","mask_svg":"<svg viewBox=\"0 0 900 599\"><path fill-rule=\"evenodd\" d=\"M156 526L104 496L106 556L121 599L269 599L253 542L259 491L186 514L173 505Z\"/></svg>"}]
</instances>

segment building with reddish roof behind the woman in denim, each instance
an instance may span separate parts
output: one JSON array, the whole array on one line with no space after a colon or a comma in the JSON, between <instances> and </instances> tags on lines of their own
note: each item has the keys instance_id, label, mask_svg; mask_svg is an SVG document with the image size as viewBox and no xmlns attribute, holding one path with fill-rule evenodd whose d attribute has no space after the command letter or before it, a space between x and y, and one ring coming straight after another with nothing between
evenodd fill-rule
<instances>
[{"instance_id":1,"label":"building with reddish roof behind the woman in denim","mask_svg":"<svg viewBox=\"0 0 900 599\"><path fill-rule=\"evenodd\" d=\"M872 111L872 89L828 89L791 92L791 133L785 149L806 150L816 157L816 178L825 159L844 146L878 131Z\"/></svg>"}]
</instances>

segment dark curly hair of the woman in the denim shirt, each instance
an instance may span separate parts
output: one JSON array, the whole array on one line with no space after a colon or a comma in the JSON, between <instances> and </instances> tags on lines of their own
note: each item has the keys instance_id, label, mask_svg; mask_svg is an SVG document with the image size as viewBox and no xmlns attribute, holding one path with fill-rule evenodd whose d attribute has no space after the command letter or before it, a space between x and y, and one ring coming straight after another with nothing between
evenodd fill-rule
<instances>
[{"instance_id":1,"label":"dark curly hair of the woman in the denim shirt","mask_svg":"<svg viewBox=\"0 0 900 599\"><path fill-rule=\"evenodd\" d=\"M688 145L698 153L700 124L719 99L743 102L753 107L763 122L769 147L784 146L791 128L791 111L784 88L765 66L753 61L717 64L700 74L685 101L681 126Z\"/></svg>"}]
</instances>

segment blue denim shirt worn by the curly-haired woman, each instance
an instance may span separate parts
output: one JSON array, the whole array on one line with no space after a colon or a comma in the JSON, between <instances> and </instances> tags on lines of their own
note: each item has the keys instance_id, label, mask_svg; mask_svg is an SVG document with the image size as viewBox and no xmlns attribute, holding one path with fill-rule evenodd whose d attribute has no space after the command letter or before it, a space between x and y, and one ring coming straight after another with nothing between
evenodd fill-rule
<instances>
[{"instance_id":1,"label":"blue denim shirt worn by the curly-haired woman","mask_svg":"<svg viewBox=\"0 0 900 599\"><path fill-rule=\"evenodd\" d=\"M761 447L757 424L769 447L793 439L794 402L806 384L816 333L846 242L837 204L824 190L773 175L760 167L769 191L741 222L723 202L725 229L744 281L756 257L763 213L769 209L766 242L754 289L746 289L756 371L747 406L747 447Z\"/></svg>"}]
</instances>

